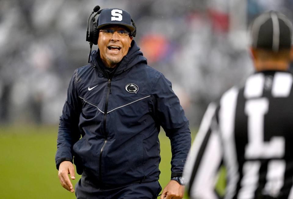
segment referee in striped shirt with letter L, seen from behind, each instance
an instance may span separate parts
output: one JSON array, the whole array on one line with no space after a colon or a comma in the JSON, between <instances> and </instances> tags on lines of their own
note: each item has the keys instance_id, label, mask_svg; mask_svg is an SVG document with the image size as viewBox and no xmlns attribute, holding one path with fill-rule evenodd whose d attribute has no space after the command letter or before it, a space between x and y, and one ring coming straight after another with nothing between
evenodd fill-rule
<instances>
[{"instance_id":1,"label":"referee in striped shirt with letter L, seen from behind","mask_svg":"<svg viewBox=\"0 0 293 199\"><path fill-rule=\"evenodd\" d=\"M214 199L219 167L224 198L293 198L292 23L266 12L251 25L255 73L210 104L187 159L190 198Z\"/></svg>"}]
</instances>

